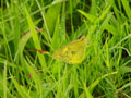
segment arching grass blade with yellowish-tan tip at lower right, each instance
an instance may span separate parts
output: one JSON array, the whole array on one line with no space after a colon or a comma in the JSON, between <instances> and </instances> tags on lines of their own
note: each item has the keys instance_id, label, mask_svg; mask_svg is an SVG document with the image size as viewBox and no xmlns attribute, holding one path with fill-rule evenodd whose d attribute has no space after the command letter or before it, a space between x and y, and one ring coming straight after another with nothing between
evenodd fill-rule
<instances>
[{"instance_id":1,"label":"arching grass blade with yellowish-tan tip at lower right","mask_svg":"<svg viewBox=\"0 0 131 98\"><path fill-rule=\"evenodd\" d=\"M90 85L88 87L88 90L92 93L94 87L105 77L109 76L109 75L112 75L112 74L117 74L118 72L112 72L112 73L108 73L108 74L105 74L104 76L97 78L93 84Z\"/></svg>"}]
</instances>

